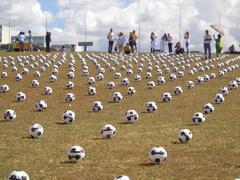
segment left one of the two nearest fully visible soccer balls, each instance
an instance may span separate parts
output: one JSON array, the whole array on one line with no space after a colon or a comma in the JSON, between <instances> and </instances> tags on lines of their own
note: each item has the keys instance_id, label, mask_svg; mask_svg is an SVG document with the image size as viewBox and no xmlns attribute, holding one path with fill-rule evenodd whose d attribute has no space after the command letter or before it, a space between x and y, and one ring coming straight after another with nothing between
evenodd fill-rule
<instances>
[{"instance_id":1,"label":"left one of the two nearest fully visible soccer balls","mask_svg":"<svg viewBox=\"0 0 240 180\"><path fill-rule=\"evenodd\" d=\"M85 157L85 151L81 146L72 146L68 151L68 158L70 162L76 163L83 160Z\"/></svg>"}]
</instances>

